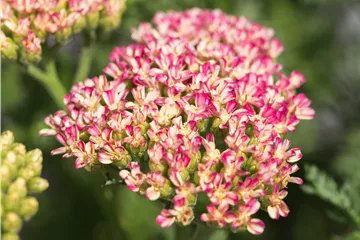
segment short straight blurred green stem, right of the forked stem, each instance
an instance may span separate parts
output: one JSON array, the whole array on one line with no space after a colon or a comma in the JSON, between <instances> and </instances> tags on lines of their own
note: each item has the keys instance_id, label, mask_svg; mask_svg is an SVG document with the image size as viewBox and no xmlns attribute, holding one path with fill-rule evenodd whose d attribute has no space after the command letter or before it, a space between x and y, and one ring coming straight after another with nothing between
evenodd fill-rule
<instances>
[{"instance_id":1,"label":"short straight blurred green stem, right of the forked stem","mask_svg":"<svg viewBox=\"0 0 360 240\"><path fill-rule=\"evenodd\" d=\"M79 59L79 66L75 74L74 82L81 82L88 76L91 62L92 62L92 55L94 52L94 45L90 44L89 46L83 47L80 59Z\"/></svg>"}]
</instances>

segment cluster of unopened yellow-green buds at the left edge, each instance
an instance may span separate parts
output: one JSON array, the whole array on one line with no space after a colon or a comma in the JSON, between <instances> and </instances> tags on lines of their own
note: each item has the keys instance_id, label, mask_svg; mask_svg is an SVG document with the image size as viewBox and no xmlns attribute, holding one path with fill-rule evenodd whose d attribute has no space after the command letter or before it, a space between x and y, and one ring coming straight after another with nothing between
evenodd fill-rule
<instances>
[{"instance_id":1,"label":"cluster of unopened yellow-green buds at the left edge","mask_svg":"<svg viewBox=\"0 0 360 240\"><path fill-rule=\"evenodd\" d=\"M42 153L26 152L6 131L0 136L0 235L3 240L19 239L23 221L36 214L39 203L31 194L40 193L48 182L40 177Z\"/></svg>"}]
</instances>

